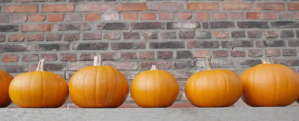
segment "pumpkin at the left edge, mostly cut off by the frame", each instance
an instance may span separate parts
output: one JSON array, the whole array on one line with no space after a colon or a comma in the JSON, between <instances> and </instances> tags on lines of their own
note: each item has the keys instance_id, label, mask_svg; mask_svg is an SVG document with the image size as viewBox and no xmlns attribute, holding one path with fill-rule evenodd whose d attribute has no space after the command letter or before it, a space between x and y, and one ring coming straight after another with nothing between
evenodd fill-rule
<instances>
[{"instance_id":1,"label":"pumpkin at the left edge, mostly cut off by the frame","mask_svg":"<svg viewBox=\"0 0 299 121\"><path fill-rule=\"evenodd\" d=\"M8 88L12 79L13 77L9 73L0 70L0 108L5 108L11 104Z\"/></svg>"}]
</instances>

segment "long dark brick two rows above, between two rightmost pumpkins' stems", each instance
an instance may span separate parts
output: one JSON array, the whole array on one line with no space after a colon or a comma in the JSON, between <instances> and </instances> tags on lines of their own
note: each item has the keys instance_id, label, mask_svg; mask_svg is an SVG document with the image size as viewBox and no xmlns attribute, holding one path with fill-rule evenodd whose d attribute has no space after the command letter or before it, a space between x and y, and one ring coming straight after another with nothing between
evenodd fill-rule
<instances>
[{"instance_id":1,"label":"long dark brick two rows above, between two rightmost pumpkins' stems","mask_svg":"<svg viewBox=\"0 0 299 121\"><path fill-rule=\"evenodd\" d=\"M221 41L222 48L253 47L253 41L234 40Z\"/></svg>"}]
</instances>

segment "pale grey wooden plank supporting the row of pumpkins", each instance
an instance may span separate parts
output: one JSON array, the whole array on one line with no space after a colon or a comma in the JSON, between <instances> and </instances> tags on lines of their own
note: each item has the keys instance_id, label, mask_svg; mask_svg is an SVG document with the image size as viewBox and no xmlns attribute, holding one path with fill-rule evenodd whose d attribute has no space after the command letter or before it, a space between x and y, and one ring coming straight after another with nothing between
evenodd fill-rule
<instances>
[{"instance_id":1,"label":"pale grey wooden plank supporting the row of pumpkins","mask_svg":"<svg viewBox=\"0 0 299 121\"><path fill-rule=\"evenodd\" d=\"M299 107L0 109L0 121L299 121Z\"/></svg>"}]
</instances>

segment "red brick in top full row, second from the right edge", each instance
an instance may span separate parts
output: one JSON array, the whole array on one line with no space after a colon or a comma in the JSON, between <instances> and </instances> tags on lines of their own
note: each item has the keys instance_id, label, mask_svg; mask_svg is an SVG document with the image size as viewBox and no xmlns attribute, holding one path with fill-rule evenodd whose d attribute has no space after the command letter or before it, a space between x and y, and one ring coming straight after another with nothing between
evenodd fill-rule
<instances>
[{"instance_id":1,"label":"red brick in top full row, second from the right edge","mask_svg":"<svg viewBox=\"0 0 299 121\"><path fill-rule=\"evenodd\" d=\"M279 2L256 2L255 10L286 10L285 3Z\"/></svg>"}]
</instances>

